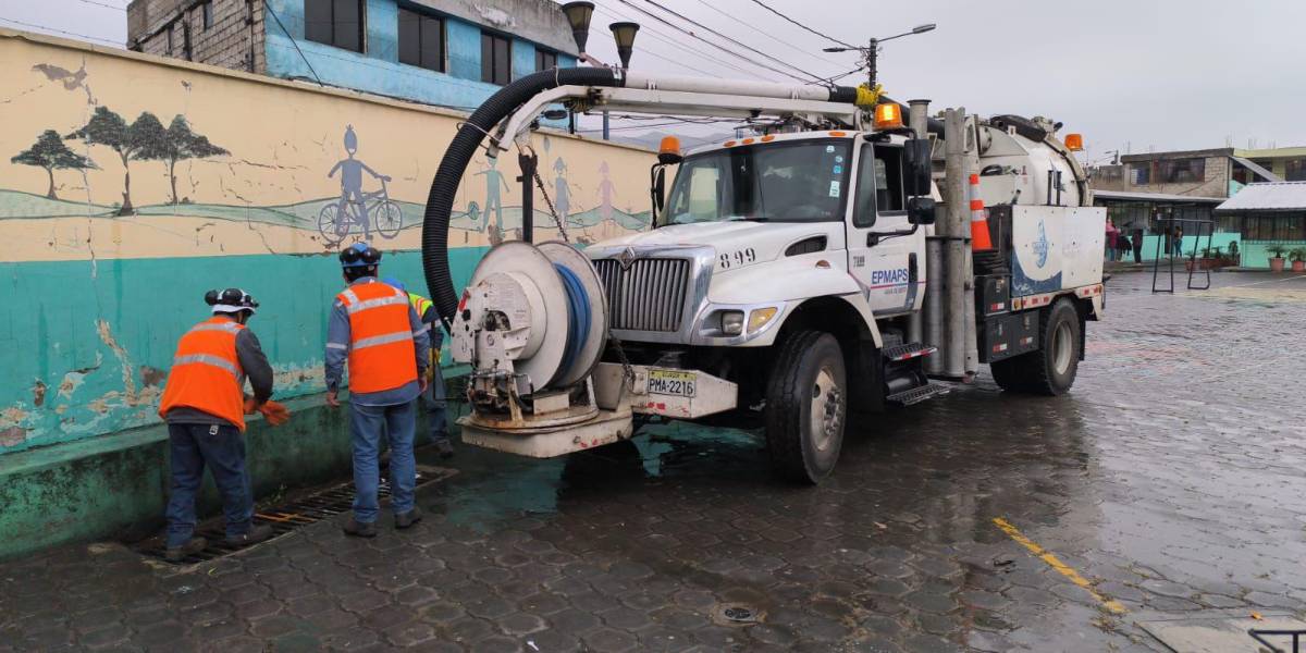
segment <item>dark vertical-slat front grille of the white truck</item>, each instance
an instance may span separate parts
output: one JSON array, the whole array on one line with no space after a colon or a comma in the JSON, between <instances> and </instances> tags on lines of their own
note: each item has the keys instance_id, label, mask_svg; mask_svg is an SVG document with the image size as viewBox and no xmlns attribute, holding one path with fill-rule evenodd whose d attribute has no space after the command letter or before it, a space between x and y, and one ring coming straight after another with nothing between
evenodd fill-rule
<instances>
[{"instance_id":1,"label":"dark vertical-slat front grille of the white truck","mask_svg":"<svg viewBox=\"0 0 1306 653\"><path fill-rule=\"evenodd\" d=\"M690 261L639 259L622 269L615 259L594 261L603 281L614 329L675 332L680 329Z\"/></svg>"}]
</instances>

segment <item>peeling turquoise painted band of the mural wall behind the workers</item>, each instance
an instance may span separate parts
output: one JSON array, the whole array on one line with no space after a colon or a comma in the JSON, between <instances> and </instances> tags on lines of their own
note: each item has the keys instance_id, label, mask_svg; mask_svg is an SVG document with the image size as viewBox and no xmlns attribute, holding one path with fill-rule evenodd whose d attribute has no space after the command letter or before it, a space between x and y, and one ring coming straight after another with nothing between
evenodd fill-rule
<instances>
[{"instance_id":1,"label":"peeling turquoise painted band of the mural wall behind the workers","mask_svg":"<svg viewBox=\"0 0 1306 653\"><path fill-rule=\"evenodd\" d=\"M449 252L454 286L483 247ZM388 252L383 274L424 289L419 252ZM343 287L329 255L0 263L5 296L51 298L0 321L0 405L24 406L22 434L0 453L157 423L176 340L206 317L214 283L249 291L249 328L278 372L276 396L323 392L326 312ZM448 362L447 362L448 364ZM10 444L5 444L5 441Z\"/></svg>"}]
</instances>

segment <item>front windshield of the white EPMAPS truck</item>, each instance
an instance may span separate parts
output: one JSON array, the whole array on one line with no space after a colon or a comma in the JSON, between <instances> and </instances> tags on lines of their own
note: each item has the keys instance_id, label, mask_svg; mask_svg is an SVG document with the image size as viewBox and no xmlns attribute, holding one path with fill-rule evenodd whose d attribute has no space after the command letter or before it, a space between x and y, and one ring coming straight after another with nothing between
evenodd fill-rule
<instances>
[{"instance_id":1,"label":"front windshield of the white EPMAPS truck","mask_svg":"<svg viewBox=\"0 0 1306 653\"><path fill-rule=\"evenodd\" d=\"M848 140L823 138L690 157L680 165L658 226L841 221L850 151Z\"/></svg>"}]
</instances>

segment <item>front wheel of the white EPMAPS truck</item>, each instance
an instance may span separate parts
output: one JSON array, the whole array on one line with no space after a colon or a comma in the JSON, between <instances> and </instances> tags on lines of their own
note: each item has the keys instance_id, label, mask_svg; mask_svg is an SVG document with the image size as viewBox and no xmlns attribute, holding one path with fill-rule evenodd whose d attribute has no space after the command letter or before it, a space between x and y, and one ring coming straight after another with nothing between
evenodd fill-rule
<instances>
[{"instance_id":1,"label":"front wheel of the white EPMAPS truck","mask_svg":"<svg viewBox=\"0 0 1306 653\"><path fill-rule=\"evenodd\" d=\"M844 444L848 415L844 353L828 333L803 330L780 346L767 381L767 449L785 479L816 485Z\"/></svg>"}]
</instances>

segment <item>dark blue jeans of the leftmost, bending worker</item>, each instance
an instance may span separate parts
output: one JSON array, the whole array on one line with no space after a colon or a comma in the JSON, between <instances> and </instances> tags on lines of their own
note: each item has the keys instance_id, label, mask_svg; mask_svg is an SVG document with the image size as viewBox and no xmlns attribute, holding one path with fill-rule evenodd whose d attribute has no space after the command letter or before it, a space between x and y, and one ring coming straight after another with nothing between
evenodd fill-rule
<instances>
[{"instance_id":1,"label":"dark blue jeans of the leftmost, bending worker","mask_svg":"<svg viewBox=\"0 0 1306 653\"><path fill-rule=\"evenodd\" d=\"M168 424L172 454L172 494L167 502L167 546L180 547L195 534L195 495L204 468L222 495L227 537L249 532L253 491L244 461L244 436L234 426Z\"/></svg>"}]
</instances>

